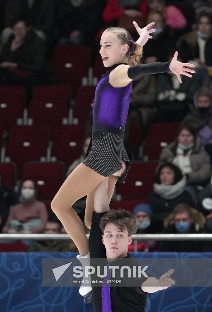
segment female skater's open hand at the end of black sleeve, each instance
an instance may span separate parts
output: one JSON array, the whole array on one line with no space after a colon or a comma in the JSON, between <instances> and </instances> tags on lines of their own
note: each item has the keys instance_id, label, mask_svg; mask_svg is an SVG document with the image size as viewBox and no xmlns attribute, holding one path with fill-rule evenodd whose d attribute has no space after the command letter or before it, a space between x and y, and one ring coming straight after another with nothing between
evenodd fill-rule
<instances>
[{"instance_id":1,"label":"female skater's open hand at the end of black sleeve","mask_svg":"<svg viewBox=\"0 0 212 312\"><path fill-rule=\"evenodd\" d=\"M192 77L192 75L190 75L188 73L195 74L195 71L193 71L192 69L187 68L185 66L194 67L194 64L181 63L181 62L177 61L177 55L178 55L178 52L176 51L173 59L171 60L170 65L169 65L169 69L170 69L170 71L173 72L173 74L175 74L177 76L180 83L182 83L182 80L180 77L181 74L184 76L190 77L190 78Z\"/></svg>"}]
</instances>

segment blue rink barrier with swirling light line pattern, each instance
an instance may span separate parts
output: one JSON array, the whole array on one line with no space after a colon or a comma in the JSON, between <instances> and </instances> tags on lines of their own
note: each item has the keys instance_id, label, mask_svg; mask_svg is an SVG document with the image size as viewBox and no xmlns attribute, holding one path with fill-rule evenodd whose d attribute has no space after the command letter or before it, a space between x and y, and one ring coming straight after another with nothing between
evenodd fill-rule
<instances>
[{"instance_id":1,"label":"blue rink barrier with swirling light line pattern","mask_svg":"<svg viewBox=\"0 0 212 312\"><path fill-rule=\"evenodd\" d=\"M0 312L94 312L78 287L42 287L43 258L75 252L1 252ZM212 253L136 252L133 258L212 258ZM212 276L211 276L212 278ZM148 295L146 312L211 312L212 287L173 287Z\"/></svg>"}]
</instances>

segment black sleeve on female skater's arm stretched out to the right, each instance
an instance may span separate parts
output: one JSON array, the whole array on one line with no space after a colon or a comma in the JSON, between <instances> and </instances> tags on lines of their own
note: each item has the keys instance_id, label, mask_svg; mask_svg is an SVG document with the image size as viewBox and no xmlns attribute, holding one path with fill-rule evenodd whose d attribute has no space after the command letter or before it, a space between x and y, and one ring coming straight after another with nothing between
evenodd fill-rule
<instances>
[{"instance_id":1,"label":"black sleeve on female skater's arm stretched out to the right","mask_svg":"<svg viewBox=\"0 0 212 312\"><path fill-rule=\"evenodd\" d=\"M136 66L130 66L128 68L128 77L130 79L136 79L143 75L149 74L160 74L170 71L170 62L166 63L149 63L149 64L139 64Z\"/></svg>"}]
</instances>

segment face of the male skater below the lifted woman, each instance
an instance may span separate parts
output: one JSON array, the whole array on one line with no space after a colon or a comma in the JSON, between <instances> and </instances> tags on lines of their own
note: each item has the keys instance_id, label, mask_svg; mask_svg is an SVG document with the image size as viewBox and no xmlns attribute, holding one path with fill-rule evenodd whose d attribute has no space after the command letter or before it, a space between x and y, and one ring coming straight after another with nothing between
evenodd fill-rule
<instances>
[{"instance_id":1,"label":"face of the male skater below the lifted woman","mask_svg":"<svg viewBox=\"0 0 212 312\"><path fill-rule=\"evenodd\" d=\"M102 235L108 259L124 258L127 256L128 246L132 243L132 236L128 231L120 229L113 223L108 223Z\"/></svg>"}]
</instances>

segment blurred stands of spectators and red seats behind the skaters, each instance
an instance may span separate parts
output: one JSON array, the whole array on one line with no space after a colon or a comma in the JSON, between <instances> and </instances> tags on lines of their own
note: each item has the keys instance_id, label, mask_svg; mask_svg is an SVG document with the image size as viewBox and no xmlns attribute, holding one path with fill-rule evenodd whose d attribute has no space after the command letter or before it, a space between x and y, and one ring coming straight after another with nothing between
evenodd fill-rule
<instances>
[{"instance_id":1,"label":"blurred stands of spectators and red seats behind the skaters","mask_svg":"<svg viewBox=\"0 0 212 312\"><path fill-rule=\"evenodd\" d=\"M122 26L136 41L134 20L157 28L141 64L170 61L178 51L196 73L182 84L171 72L133 81L124 137L132 167L110 207L132 211L137 233L212 233L210 0L1 1L1 233L65 233L50 203L89 145L95 86L105 72L101 32ZM74 205L83 222L85 202ZM70 240L18 244L77 251ZM212 244L141 240L138 250L212 251Z\"/></svg>"}]
</instances>

